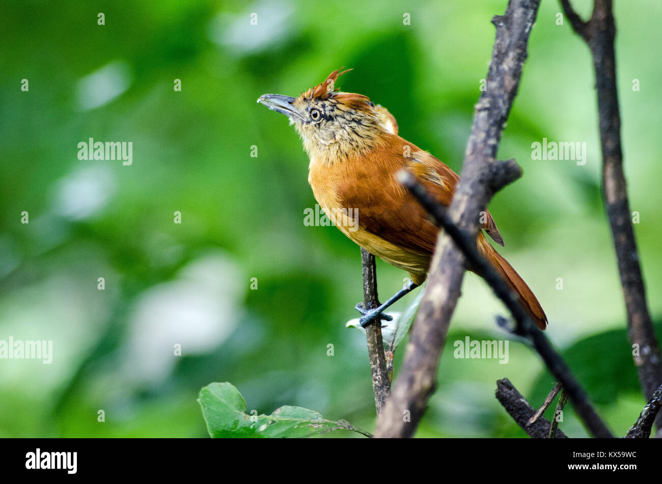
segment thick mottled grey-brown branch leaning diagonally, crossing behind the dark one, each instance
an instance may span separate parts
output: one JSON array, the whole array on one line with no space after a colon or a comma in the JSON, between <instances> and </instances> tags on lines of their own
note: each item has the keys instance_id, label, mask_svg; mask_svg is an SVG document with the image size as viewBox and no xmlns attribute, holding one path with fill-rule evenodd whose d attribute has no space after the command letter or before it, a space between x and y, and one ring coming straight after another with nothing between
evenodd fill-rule
<instances>
[{"instance_id":1,"label":"thick mottled grey-brown branch leaning diagonally, crossing behind the dark one","mask_svg":"<svg viewBox=\"0 0 662 484\"><path fill-rule=\"evenodd\" d=\"M479 214L494 194L485 173L496 158L498 143L526 60L526 46L540 0L510 0L495 16L495 45L487 89L475 106L471 135L449 216L467 236L479 230ZM430 264L430 280L406 348L393 395L377 424L378 437L412 436L434 391L439 357L465 271L464 256L448 235L440 233ZM410 419L403 419L409 415Z\"/></svg>"}]
</instances>

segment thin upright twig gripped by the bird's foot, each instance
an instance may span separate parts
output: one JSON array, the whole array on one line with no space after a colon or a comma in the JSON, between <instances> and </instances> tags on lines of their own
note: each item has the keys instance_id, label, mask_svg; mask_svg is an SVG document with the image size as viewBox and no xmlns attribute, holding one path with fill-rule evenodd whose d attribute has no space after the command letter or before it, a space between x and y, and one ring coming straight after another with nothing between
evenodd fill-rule
<instances>
[{"instance_id":1,"label":"thin upright twig gripped by the bird's foot","mask_svg":"<svg viewBox=\"0 0 662 484\"><path fill-rule=\"evenodd\" d=\"M374 309L379 306L377 299L377 270L375 256L361 249L361 264L363 264L363 307ZM375 392L375 407L377 415L381 414L386 401L391 395L391 380L384 355L384 343L381 337L381 321L365 327L365 338L368 344L368 356L373 376L373 391Z\"/></svg>"}]
</instances>

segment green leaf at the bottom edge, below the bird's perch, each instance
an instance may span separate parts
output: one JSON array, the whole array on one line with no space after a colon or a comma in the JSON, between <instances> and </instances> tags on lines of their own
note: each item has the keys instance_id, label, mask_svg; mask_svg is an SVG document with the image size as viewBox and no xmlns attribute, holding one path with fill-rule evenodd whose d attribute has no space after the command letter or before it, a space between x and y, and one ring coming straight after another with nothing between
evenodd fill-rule
<instances>
[{"instance_id":1,"label":"green leaf at the bottom edge, below the bird's perch","mask_svg":"<svg viewBox=\"0 0 662 484\"><path fill-rule=\"evenodd\" d=\"M326 420L320 413L302 407L285 405L271 415L247 415L246 400L227 382L203 387L198 402L213 438L310 437L341 429L371 436L347 421Z\"/></svg>"}]
</instances>

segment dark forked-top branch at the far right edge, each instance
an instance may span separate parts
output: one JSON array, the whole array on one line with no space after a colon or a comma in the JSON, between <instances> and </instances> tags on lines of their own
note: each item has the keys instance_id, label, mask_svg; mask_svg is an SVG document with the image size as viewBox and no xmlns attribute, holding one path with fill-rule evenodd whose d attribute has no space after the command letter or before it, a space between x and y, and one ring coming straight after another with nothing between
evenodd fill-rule
<instances>
[{"instance_id":1,"label":"dark forked-top branch at the far right edge","mask_svg":"<svg viewBox=\"0 0 662 484\"><path fill-rule=\"evenodd\" d=\"M568 19L576 14L568 0L561 5ZM573 17L574 16L574 17ZM655 336L646 303L637 243L632 228L628 188L623 171L623 153L620 136L620 109L616 87L616 55L614 38L616 26L611 0L595 0L589 22L575 28L591 49L598 94L598 120L602 147L602 188L604 203L612 229L618 272L628 313L628 338L638 354L634 364L639 383L647 399L662 384L660 348ZM657 417L657 428L662 429L662 413Z\"/></svg>"}]
</instances>

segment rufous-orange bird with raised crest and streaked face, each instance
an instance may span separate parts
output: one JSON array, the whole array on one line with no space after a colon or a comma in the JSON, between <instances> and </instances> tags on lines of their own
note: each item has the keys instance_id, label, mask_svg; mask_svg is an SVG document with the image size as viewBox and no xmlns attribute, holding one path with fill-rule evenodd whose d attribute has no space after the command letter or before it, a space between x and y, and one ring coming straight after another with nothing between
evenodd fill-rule
<instances>
[{"instance_id":1,"label":"rufous-orange bird with raised crest and streaked face","mask_svg":"<svg viewBox=\"0 0 662 484\"><path fill-rule=\"evenodd\" d=\"M459 176L428 151L398 136L397 120L387 108L365 95L340 91L336 87L338 77L351 70L333 71L299 97L265 94L258 102L285 114L295 126L310 160L308 182L324 214L357 245L410 276L407 284L379 307L367 310L361 303L356 305L365 327L375 319L390 321L392 317L383 311L423 284L439 235L439 228L424 208L397 181L397 173L409 171L447 207ZM503 246L487 209L481 217L481 228ZM476 243L519 295L536 326L544 330L547 316L526 282L483 231Z\"/></svg>"}]
</instances>

